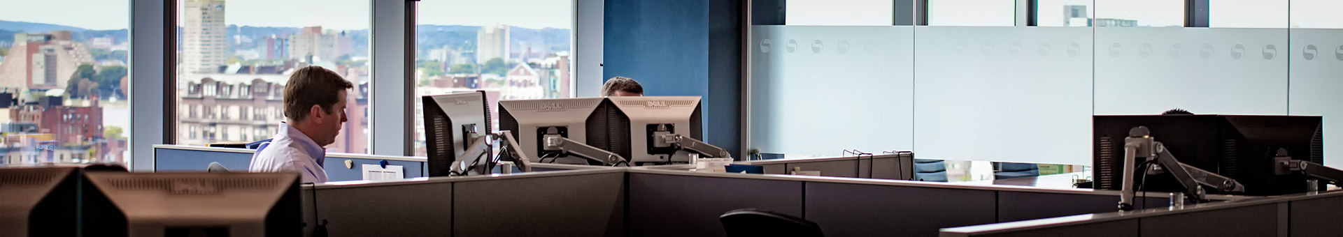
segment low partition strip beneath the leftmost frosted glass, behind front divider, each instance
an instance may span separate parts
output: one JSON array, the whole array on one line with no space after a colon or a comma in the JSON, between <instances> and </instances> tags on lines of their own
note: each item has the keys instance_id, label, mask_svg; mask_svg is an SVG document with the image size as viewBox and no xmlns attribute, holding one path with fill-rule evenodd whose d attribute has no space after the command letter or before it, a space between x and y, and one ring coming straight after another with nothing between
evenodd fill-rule
<instances>
[{"instance_id":1,"label":"low partition strip beneath the leftmost frosted glass, behind front divider","mask_svg":"<svg viewBox=\"0 0 1343 237\"><path fill-rule=\"evenodd\" d=\"M913 153L858 157L743 161L737 165L763 166L766 174L790 174L794 170L819 171L823 177L913 179Z\"/></svg>"}]
</instances>

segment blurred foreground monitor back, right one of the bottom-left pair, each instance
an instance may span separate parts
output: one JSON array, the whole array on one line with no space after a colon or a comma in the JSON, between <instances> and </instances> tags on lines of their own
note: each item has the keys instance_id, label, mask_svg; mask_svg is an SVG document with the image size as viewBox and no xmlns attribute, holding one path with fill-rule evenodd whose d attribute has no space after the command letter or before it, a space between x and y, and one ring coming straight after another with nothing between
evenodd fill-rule
<instances>
[{"instance_id":1,"label":"blurred foreground monitor back, right one of the bottom-left pair","mask_svg":"<svg viewBox=\"0 0 1343 237\"><path fill-rule=\"evenodd\" d=\"M297 173L89 173L85 233L302 236Z\"/></svg>"}]
</instances>

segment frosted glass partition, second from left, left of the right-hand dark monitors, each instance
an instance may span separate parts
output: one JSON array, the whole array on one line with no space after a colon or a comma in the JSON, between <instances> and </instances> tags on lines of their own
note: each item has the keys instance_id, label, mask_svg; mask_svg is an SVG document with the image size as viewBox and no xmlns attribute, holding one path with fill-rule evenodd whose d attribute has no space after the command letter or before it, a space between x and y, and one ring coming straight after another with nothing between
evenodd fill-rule
<instances>
[{"instance_id":1,"label":"frosted glass partition, second from left, left of the right-hand dark monitors","mask_svg":"<svg viewBox=\"0 0 1343 237\"><path fill-rule=\"evenodd\" d=\"M920 158L1089 163L1092 28L915 32Z\"/></svg>"}]
</instances>

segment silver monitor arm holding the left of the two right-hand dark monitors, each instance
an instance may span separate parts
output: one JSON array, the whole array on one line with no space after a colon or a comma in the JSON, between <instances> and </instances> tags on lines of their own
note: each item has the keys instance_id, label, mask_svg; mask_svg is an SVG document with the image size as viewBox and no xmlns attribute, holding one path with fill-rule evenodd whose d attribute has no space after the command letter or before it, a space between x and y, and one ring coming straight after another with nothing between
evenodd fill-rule
<instances>
[{"instance_id":1,"label":"silver monitor arm holding the left of the two right-hand dark monitors","mask_svg":"<svg viewBox=\"0 0 1343 237\"><path fill-rule=\"evenodd\" d=\"M1138 158L1155 162L1158 167L1175 177L1185 187L1185 197L1193 202L1207 202L1203 186L1217 187L1219 191L1245 191L1245 186L1236 179L1175 161L1166 146L1151 137L1147 127L1138 126L1128 131L1128 138L1124 138L1124 179L1119 195L1120 210L1133 210L1133 169Z\"/></svg>"}]
</instances>

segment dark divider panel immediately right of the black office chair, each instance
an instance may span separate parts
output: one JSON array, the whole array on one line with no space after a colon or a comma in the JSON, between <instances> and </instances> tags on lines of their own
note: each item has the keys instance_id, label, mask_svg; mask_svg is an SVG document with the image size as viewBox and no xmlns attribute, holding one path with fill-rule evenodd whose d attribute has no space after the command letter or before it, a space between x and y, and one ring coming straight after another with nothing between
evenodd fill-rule
<instances>
[{"instance_id":1,"label":"dark divider panel immediately right of the black office chair","mask_svg":"<svg viewBox=\"0 0 1343 237\"><path fill-rule=\"evenodd\" d=\"M992 224L992 190L806 182L806 220L826 236L936 237L937 229Z\"/></svg>"}]
</instances>

